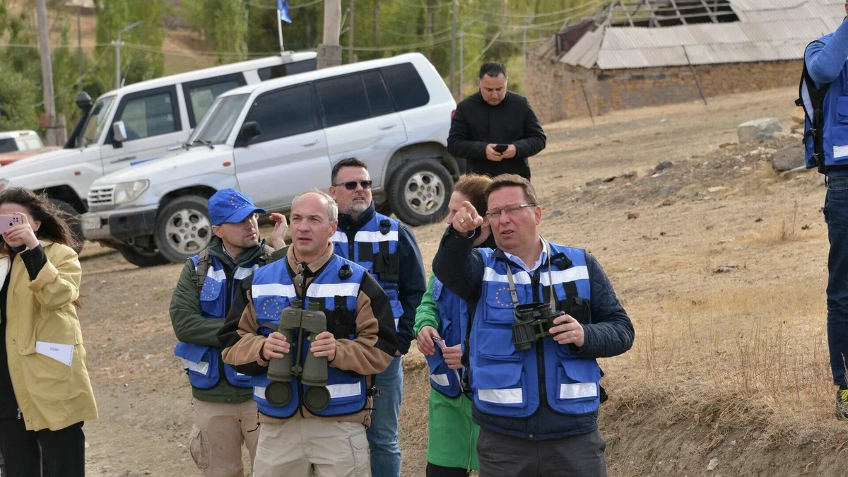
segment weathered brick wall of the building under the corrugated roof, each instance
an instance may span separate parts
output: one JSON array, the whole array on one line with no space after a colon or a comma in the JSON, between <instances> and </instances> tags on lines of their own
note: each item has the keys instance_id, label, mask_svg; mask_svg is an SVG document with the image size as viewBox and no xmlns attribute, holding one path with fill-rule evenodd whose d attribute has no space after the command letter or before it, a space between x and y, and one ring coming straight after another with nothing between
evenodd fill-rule
<instances>
[{"instance_id":1,"label":"weathered brick wall of the building under the corrugated roof","mask_svg":"<svg viewBox=\"0 0 848 477\"><path fill-rule=\"evenodd\" d=\"M704 95L710 98L797 86L801 60L700 65L695 66L695 73ZM527 97L543 122L586 117L589 108L593 115L603 115L618 109L700 100L689 66L587 70L533 55L527 56Z\"/></svg>"}]
</instances>

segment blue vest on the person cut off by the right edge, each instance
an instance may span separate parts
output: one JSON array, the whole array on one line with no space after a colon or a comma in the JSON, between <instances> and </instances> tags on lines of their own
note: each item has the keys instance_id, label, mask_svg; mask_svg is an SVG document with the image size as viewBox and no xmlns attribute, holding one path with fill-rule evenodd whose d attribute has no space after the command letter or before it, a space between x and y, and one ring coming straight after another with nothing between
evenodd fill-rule
<instances>
[{"instance_id":1,"label":"blue vest on the person cut off by the right edge","mask_svg":"<svg viewBox=\"0 0 848 477\"><path fill-rule=\"evenodd\" d=\"M833 33L822 36L817 40L827 44ZM806 72L806 65L805 65ZM824 85L819 85L820 87ZM808 168L819 167L819 171L827 173L830 171L842 171L848 169L848 62L842 65L842 71L836 79L830 83L828 93L824 96L822 104L822 154L823 166L814 164L812 155L815 146L811 127L810 116L813 112L811 92L804 81L801 81L801 104L807 113L804 123L805 139L804 152L806 166Z\"/></svg>"}]
</instances>

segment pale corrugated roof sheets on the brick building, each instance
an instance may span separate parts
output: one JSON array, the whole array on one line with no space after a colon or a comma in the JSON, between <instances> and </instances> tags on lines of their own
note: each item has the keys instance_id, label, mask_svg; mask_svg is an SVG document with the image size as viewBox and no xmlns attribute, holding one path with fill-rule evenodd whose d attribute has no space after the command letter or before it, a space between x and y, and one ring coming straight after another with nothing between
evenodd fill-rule
<instances>
[{"instance_id":1,"label":"pale corrugated roof sheets on the brick building","mask_svg":"<svg viewBox=\"0 0 848 477\"><path fill-rule=\"evenodd\" d=\"M834 31L845 17L845 0L729 1L739 22L601 26L560 60L616 70L801 59L809 42Z\"/></svg>"}]
</instances>

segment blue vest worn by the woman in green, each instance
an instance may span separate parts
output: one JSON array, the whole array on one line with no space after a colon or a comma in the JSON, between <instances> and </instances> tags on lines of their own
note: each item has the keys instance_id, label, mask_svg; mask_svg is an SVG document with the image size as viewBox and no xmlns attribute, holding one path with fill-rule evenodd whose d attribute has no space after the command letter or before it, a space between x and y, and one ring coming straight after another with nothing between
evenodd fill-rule
<instances>
[{"instance_id":1,"label":"blue vest worn by the woman in green","mask_svg":"<svg viewBox=\"0 0 848 477\"><path fill-rule=\"evenodd\" d=\"M465 300L456 296L438 278L432 282L432 300L436 303L438 313L438 334L447 347L459 345L462 342L462 323L468 322L468 305ZM448 397L458 397L462 392L460 382L456 379L456 371L462 375L462 370L448 368L444 362L442 351L436 345L436 354L425 356L430 366L430 385L432 389Z\"/></svg>"}]
</instances>

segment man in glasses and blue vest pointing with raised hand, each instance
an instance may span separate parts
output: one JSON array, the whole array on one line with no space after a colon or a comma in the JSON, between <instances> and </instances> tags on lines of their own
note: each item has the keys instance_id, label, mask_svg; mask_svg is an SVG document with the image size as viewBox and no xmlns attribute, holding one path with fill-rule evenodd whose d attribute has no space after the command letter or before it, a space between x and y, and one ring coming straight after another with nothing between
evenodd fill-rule
<instances>
[{"instance_id":1,"label":"man in glasses and blue vest pointing with raised hand","mask_svg":"<svg viewBox=\"0 0 848 477\"><path fill-rule=\"evenodd\" d=\"M466 351L480 476L606 475L595 360L628 351L633 323L592 255L539 235L527 179L495 177L486 197L484 216L462 205L433 260L475 310ZM473 249L484 218L497 249Z\"/></svg>"}]
</instances>

